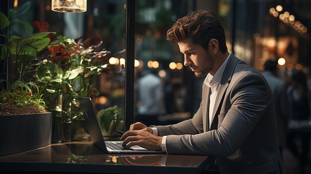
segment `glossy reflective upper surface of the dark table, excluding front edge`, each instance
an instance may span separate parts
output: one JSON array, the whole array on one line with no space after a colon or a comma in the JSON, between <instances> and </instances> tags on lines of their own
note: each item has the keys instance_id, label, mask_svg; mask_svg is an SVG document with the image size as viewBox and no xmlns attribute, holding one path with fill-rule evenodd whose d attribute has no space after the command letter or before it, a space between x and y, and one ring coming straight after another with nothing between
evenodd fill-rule
<instances>
[{"instance_id":1,"label":"glossy reflective upper surface of the dark table, excluding front edge","mask_svg":"<svg viewBox=\"0 0 311 174\"><path fill-rule=\"evenodd\" d=\"M24 153L0 157L0 162L195 167L205 159L206 157L204 156L166 154L105 154L105 152L90 142L72 142L68 144L52 144Z\"/></svg>"}]
</instances>

